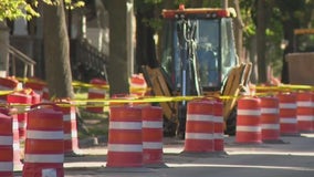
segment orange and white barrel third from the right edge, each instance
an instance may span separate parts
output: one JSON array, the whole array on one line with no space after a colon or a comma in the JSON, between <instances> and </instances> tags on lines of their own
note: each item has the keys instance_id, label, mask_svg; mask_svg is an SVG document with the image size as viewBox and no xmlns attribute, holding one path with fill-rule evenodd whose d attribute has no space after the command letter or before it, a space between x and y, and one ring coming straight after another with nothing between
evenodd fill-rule
<instances>
[{"instance_id":1,"label":"orange and white barrel third from the right edge","mask_svg":"<svg viewBox=\"0 0 314 177\"><path fill-rule=\"evenodd\" d=\"M278 97L261 97L262 140L280 140Z\"/></svg>"}]
</instances>

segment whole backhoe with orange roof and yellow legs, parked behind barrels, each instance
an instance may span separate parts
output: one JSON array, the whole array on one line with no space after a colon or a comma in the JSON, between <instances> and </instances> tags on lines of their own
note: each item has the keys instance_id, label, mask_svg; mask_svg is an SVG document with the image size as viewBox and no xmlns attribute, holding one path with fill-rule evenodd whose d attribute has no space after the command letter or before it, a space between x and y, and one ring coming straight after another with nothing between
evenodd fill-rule
<instances>
[{"instance_id":1,"label":"whole backhoe with orange roof and yellow legs, parked behind barrels","mask_svg":"<svg viewBox=\"0 0 314 177\"><path fill-rule=\"evenodd\" d=\"M251 64L239 63L232 29L233 9L163 10L160 67L143 66L155 95L212 96L223 100L226 133L236 132L237 97L245 90ZM187 101L160 103L165 132L184 137Z\"/></svg>"}]
</instances>

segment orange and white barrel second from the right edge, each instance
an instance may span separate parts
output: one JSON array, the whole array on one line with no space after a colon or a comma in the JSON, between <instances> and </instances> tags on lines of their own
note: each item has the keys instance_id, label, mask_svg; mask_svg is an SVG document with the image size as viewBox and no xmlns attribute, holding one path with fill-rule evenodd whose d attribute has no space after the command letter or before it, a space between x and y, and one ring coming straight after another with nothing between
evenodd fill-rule
<instances>
[{"instance_id":1,"label":"orange and white barrel second from the right edge","mask_svg":"<svg viewBox=\"0 0 314 177\"><path fill-rule=\"evenodd\" d=\"M280 93L278 97L281 135L297 135L296 95Z\"/></svg>"}]
</instances>

